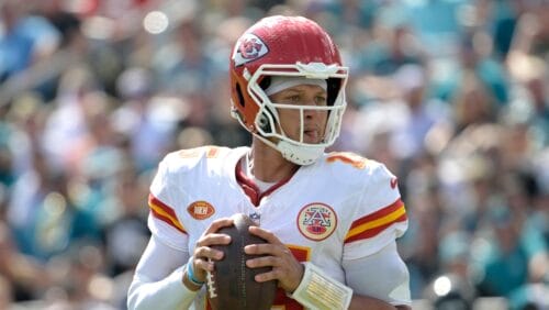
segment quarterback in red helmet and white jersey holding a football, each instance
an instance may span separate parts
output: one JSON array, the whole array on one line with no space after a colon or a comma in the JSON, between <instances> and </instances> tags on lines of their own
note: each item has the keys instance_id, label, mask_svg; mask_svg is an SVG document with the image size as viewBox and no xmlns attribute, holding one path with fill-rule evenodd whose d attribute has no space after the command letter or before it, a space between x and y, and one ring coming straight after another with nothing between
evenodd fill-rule
<instances>
[{"instance_id":1,"label":"quarterback in red helmet and white jersey holding a football","mask_svg":"<svg viewBox=\"0 0 549 310\"><path fill-rule=\"evenodd\" d=\"M272 267L256 276L278 280L272 309L410 309L396 177L356 154L324 152L346 104L347 68L329 36L304 18L266 18L236 43L231 77L233 115L251 147L164 158L128 308L209 309L205 275L222 259L211 246L229 242L215 232L244 213L258 223L250 233L268 241L245 251L266 255L248 267Z\"/></svg>"}]
</instances>

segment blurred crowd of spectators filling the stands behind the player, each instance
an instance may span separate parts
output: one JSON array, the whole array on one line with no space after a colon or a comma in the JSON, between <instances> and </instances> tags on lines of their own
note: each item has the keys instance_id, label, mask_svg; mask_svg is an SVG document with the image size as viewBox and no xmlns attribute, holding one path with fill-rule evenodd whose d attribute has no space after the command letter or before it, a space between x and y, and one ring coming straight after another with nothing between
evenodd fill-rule
<instances>
[{"instance_id":1,"label":"blurred crowd of spectators filling the stands behind the player","mask_svg":"<svg viewBox=\"0 0 549 310\"><path fill-rule=\"evenodd\" d=\"M350 68L333 150L399 177L417 309L549 309L549 1L1 0L0 309L124 309L168 152L239 146L228 56L267 14Z\"/></svg>"}]
</instances>

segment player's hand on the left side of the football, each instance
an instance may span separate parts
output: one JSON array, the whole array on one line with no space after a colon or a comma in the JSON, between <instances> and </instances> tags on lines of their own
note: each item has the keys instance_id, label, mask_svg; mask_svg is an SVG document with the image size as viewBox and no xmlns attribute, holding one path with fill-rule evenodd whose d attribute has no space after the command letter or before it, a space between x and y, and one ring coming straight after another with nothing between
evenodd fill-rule
<instances>
[{"instance_id":1,"label":"player's hand on the left side of the football","mask_svg":"<svg viewBox=\"0 0 549 310\"><path fill-rule=\"evenodd\" d=\"M216 233L221 228L233 225L233 219L223 218L212 222L197 241L194 253L192 254L192 267L194 278L204 283L206 279L206 270L213 272L214 261L223 259L223 252L215 250L212 245L229 244L231 236ZM210 258L210 259L209 259Z\"/></svg>"}]
</instances>

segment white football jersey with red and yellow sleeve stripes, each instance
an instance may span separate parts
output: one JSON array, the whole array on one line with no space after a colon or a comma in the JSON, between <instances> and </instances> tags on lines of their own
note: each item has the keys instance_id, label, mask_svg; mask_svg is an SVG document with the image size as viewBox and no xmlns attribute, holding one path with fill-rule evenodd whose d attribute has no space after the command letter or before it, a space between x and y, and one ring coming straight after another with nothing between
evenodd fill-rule
<instances>
[{"instance_id":1,"label":"white football jersey with red and yellow sleeve stripes","mask_svg":"<svg viewBox=\"0 0 549 310\"><path fill-rule=\"evenodd\" d=\"M396 178L378 162L352 153L325 154L282 186L250 199L237 180L247 152L249 147L203 146L167 155L150 187L150 231L192 253L213 220L248 214L299 261L345 283L345 261L380 251L407 228ZM203 305L201 294L195 308ZM282 292L276 306L303 309Z\"/></svg>"}]
</instances>

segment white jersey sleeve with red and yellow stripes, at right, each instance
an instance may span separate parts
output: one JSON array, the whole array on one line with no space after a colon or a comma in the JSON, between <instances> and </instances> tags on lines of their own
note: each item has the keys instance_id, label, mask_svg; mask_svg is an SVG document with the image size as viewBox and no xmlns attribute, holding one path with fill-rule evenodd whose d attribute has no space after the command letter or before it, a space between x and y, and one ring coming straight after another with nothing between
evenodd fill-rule
<instances>
[{"instance_id":1,"label":"white jersey sleeve with red and yellow stripes, at right","mask_svg":"<svg viewBox=\"0 0 549 310\"><path fill-rule=\"evenodd\" d=\"M380 163L367 169L366 188L344 241L344 259L357 259L385 247L407 229L396 177Z\"/></svg>"}]
</instances>

